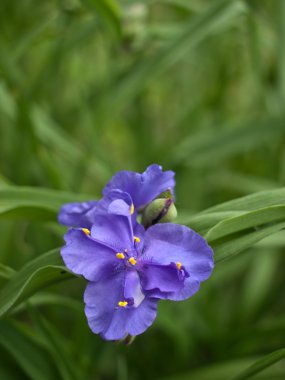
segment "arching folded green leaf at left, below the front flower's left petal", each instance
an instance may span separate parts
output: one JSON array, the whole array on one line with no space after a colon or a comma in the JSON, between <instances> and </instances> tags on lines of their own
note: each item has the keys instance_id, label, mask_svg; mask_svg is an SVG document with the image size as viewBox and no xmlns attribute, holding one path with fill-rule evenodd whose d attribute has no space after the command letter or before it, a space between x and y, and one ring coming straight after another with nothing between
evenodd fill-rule
<instances>
[{"instance_id":1,"label":"arching folded green leaf at left, below the front flower's left petal","mask_svg":"<svg viewBox=\"0 0 285 380\"><path fill-rule=\"evenodd\" d=\"M0 293L0 317L38 290L71 279L63 266L59 250L47 252L27 263L10 279Z\"/></svg>"}]
</instances>

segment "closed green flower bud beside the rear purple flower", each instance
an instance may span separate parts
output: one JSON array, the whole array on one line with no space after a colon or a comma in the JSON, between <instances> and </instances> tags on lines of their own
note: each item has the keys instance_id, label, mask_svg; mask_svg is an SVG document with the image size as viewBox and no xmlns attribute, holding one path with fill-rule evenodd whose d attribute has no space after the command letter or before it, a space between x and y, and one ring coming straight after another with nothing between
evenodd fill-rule
<instances>
[{"instance_id":1,"label":"closed green flower bud beside the rear purple flower","mask_svg":"<svg viewBox=\"0 0 285 380\"><path fill-rule=\"evenodd\" d=\"M158 198L152 201L142 213L142 224L148 228L156 223L171 222L177 216L177 210L170 198Z\"/></svg>"}]
</instances>

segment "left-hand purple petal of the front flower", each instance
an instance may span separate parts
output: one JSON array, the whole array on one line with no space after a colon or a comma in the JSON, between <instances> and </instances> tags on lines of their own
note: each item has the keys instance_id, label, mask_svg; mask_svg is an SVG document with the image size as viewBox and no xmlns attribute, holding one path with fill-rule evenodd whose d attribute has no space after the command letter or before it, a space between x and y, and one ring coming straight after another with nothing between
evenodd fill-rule
<instances>
[{"instance_id":1,"label":"left-hand purple petal of the front flower","mask_svg":"<svg viewBox=\"0 0 285 380\"><path fill-rule=\"evenodd\" d=\"M70 229L65 241L61 256L67 268L75 274L97 281L118 271L120 263L115 251L94 241L81 229Z\"/></svg>"}]
</instances>

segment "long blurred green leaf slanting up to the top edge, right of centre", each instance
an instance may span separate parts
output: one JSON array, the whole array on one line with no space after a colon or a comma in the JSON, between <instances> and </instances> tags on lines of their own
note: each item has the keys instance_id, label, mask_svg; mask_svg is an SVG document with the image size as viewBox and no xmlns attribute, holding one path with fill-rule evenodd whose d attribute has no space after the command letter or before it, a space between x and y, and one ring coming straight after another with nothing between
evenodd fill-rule
<instances>
[{"instance_id":1,"label":"long blurred green leaf slanting up to the top edge, right of centre","mask_svg":"<svg viewBox=\"0 0 285 380\"><path fill-rule=\"evenodd\" d=\"M199 43L213 33L220 30L225 19L230 15L237 17L244 13L244 4L240 1L220 0L202 14L190 19L182 32L168 46L163 46L153 57L147 60L135 62L132 69L128 71L122 80L107 90L106 107L112 104L112 114L115 115L120 107L129 101L148 83L153 81L173 65L183 59ZM110 114L110 112L107 112Z\"/></svg>"}]
</instances>

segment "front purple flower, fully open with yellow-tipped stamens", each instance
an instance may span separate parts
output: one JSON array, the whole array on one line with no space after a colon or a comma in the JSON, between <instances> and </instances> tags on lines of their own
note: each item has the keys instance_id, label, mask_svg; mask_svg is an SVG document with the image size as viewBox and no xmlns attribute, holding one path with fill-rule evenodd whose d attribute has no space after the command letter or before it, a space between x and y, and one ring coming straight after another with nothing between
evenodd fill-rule
<instances>
[{"instance_id":1,"label":"front purple flower, fully open with yellow-tipped stamens","mask_svg":"<svg viewBox=\"0 0 285 380\"><path fill-rule=\"evenodd\" d=\"M119 210L128 209L119 203ZM156 224L145 231L130 215L108 211L94 215L91 230L70 229L61 255L71 271L89 281L84 301L91 330L120 340L153 323L159 299L196 293L212 272L213 251L185 226Z\"/></svg>"}]
</instances>

